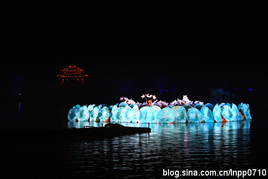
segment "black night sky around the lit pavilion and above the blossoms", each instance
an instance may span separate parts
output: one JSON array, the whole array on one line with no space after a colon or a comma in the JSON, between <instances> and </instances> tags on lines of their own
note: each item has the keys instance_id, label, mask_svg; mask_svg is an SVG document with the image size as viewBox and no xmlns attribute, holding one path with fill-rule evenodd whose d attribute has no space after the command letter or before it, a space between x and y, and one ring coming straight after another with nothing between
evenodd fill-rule
<instances>
[{"instance_id":1,"label":"black night sky around the lit pavilion and above the blossoms","mask_svg":"<svg viewBox=\"0 0 268 179\"><path fill-rule=\"evenodd\" d=\"M213 88L237 94L267 87L262 4L58 1L17 4L2 13L2 94L54 93L67 65L85 68L86 91L115 99L147 93L211 98Z\"/></svg>"}]
</instances>

